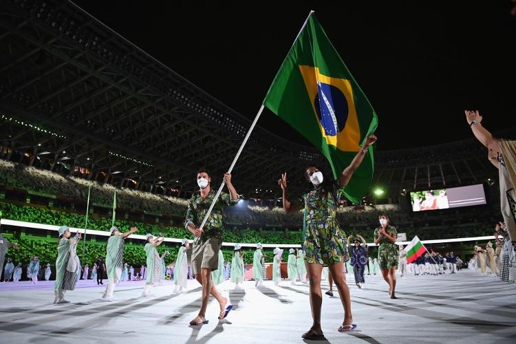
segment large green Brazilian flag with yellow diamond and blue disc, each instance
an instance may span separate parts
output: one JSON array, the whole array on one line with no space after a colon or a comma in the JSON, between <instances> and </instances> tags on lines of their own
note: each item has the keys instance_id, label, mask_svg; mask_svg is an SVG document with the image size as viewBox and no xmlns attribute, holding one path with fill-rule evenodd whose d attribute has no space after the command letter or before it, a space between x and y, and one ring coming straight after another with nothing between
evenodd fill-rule
<instances>
[{"instance_id":1,"label":"large green Brazilian flag with yellow diamond and blue disc","mask_svg":"<svg viewBox=\"0 0 516 344\"><path fill-rule=\"evenodd\" d=\"M264 105L321 150L334 178L378 126L369 100L312 13L279 68ZM369 189L373 164L370 148L344 191L355 204Z\"/></svg>"}]
</instances>

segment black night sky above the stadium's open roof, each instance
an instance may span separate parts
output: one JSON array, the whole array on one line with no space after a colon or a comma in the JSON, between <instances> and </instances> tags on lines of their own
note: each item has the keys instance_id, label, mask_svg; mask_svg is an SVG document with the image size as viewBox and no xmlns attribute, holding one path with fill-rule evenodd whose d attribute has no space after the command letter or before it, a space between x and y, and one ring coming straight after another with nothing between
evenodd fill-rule
<instances>
[{"instance_id":1,"label":"black night sky above the stadium's open roof","mask_svg":"<svg viewBox=\"0 0 516 344\"><path fill-rule=\"evenodd\" d=\"M378 113L378 149L470 138L464 109L491 131L515 122L510 0L75 3L248 118L313 9ZM259 125L304 142L269 111Z\"/></svg>"}]
</instances>

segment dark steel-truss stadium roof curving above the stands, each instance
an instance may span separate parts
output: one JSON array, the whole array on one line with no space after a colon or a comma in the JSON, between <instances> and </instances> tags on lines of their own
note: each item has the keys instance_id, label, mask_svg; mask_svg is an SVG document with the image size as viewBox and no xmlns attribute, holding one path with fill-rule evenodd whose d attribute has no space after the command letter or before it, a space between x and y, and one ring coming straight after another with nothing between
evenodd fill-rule
<instances>
[{"instance_id":1,"label":"dark steel-truss stadium roof curving above the stands","mask_svg":"<svg viewBox=\"0 0 516 344\"><path fill-rule=\"evenodd\" d=\"M142 190L186 193L196 188L200 166L222 177L250 127L248 118L58 0L0 3L0 123L3 147L44 154L52 169L65 162L64 173L82 168L87 178L115 185L133 180ZM496 171L484 155L473 139L381 151L373 185L394 197L402 189L485 182ZM235 185L245 197L281 197L277 179L287 172L299 194L308 187L301 169L309 162L327 166L312 147L257 127L233 170Z\"/></svg>"}]
</instances>

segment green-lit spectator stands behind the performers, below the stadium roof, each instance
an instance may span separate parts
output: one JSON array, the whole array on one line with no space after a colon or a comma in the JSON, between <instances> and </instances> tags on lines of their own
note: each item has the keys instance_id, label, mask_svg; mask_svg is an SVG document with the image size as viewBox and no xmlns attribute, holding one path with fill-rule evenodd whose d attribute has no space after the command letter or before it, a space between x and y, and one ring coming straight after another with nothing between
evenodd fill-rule
<instances>
[{"instance_id":1,"label":"green-lit spectator stands behind the performers, below the stadium roof","mask_svg":"<svg viewBox=\"0 0 516 344\"><path fill-rule=\"evenodd\" d=\"M0 160L0 203L3 217L25 222L74 226L85 224L88 186L92 186L88 228L107 230L111 226L114 186ZM136 224L140 234L163 233L189 237L183 228L187 201L144 191L117 189L116 221L120 227ZM409 213L396 204L338 208L337 219L346 233L361 233L372 239L378 215L387 213L398 230L421 239L471 237L492 234L497 212L489 205L447 209L439 212ZM281 208L257 206L241 201L225 212L226 238L230 242L262 241L266 244L299 244L301 212L286 215ZM251 230L243 231L242 229ZM253 235L258 233L257 235ZM264 237L270 233L272 237ZM287 233L287 234L286 234ZM235 235L235 236L233 236ZM269 234L267 234L269 235Z\"/></svg>"}]
</instances>

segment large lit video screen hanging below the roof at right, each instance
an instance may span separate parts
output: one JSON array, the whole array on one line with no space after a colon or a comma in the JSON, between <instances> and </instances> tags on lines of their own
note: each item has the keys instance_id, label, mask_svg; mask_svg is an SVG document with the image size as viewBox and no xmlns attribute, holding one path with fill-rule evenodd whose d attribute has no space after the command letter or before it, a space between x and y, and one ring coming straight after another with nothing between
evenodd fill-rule
<instances>
[{"instance_id":1,"label":"large lit video screen hanging below the roof at right","mask_svg":"<svg viewBox=\"0 0 516 344\"><path fill-rule=\"evenodd\" d=\"M486 195L484 186L476 184L458 188L413 191L410 193L410 200L412 211L433 211L486 204Z\"/></svg>"}]
</instances>

